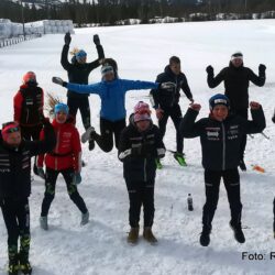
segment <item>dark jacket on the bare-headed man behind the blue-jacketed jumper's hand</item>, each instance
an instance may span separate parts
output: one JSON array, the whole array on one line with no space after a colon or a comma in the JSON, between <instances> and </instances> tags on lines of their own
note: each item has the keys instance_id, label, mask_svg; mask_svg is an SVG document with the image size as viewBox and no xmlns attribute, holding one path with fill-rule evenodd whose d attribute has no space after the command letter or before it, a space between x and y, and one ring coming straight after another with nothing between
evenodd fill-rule
<instances>
[{"instance_id":1,"label":"dark jacket on the bare-headed man behind the blue-jacketed jumper's hand","mask_svg":"<svg viewBox=\"0 0 275 275\"><path fill-rule=\"evenodd\" d=\"M185 92L186 97L188 99L193 98L190 88L187 82L187 78L185 74L180 73L178 76L175 75L169 66L166 66L164 69L164 73L157 76L156 82L174 82L176 85L175 88L172 89L162 89L161 87L158 89L152 89L151 90L151 99L153 108L162 108L162 109L168 109L173 106L177 105L180 97L180 89Z\"/></svg>"}]
</instances>

